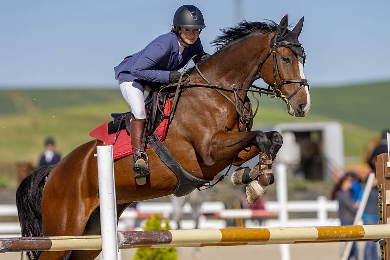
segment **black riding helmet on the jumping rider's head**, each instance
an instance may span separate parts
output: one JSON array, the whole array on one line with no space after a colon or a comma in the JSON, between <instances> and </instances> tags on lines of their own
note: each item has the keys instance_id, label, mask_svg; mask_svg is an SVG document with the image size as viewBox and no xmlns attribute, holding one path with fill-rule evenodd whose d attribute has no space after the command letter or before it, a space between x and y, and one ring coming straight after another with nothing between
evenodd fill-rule
<instances>
[{"instance_id":1,"label":"black riding helmet on the jumping rider's head","mask_svg":"<svg viewBox=\"0 0 390 260\"><path fill-rule=\"evenodd\" d=\"M178 26L186 29L202 30L206 27L202 12L194 5L186 4L177 8L174 15L174 26L178 31Z\"/></svg>"}]
</instances>

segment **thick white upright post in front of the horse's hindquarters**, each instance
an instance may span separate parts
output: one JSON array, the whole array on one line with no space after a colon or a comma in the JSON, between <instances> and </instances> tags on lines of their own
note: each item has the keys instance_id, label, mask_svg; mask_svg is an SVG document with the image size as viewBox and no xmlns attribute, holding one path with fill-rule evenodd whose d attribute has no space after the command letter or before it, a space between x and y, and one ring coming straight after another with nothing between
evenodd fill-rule
<instances>
[{"instance_id":1,"label":"thick white upright post in front of the horse's hindquarters","mask_svg":"<svg viewBox=\"0 0 390 260\"><path fill-rule=\"evenodd\" d=\"M117 260L117 204L113 146L97 146L97 151L102 255L103 260Z\"/></svg>"}]
</instances>

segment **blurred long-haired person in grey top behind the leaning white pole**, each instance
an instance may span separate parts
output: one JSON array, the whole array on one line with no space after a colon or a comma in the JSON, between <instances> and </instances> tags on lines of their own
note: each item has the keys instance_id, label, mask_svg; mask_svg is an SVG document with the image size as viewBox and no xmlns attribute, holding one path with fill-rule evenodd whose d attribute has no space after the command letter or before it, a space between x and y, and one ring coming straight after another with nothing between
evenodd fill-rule
<instances>
[{"instance_id":1,"label":"blurred long-haired person in grey top behind the leaning white pole","mask_svg":"<svg viewBox=\"0 0 390 260\"><path fill-rule=\"evenodd\" d=\"M353 225L353 220L356 215L356 204L352 200L351 187L354 179L351 177L351 174L345 174L340 181L334 187L331 199L336 200L339 204L338 208L338 217L340 219L341 225ZM353 242L350 255L348 259L354 257L355 260L358 260L358 250L356 242Z\"/></svg>"}]
</instances>

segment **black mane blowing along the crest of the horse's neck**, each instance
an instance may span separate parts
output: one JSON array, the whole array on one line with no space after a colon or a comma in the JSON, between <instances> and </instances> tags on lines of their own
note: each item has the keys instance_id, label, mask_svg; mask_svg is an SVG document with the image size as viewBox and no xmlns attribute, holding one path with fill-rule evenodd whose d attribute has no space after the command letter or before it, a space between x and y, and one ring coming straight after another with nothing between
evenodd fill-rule
<instances>
[{"instance_id":1,"label":"black mane blowing along the crest of the horse's neck","mask_svg":"<svg viewBox=\"0 0 390 260\"><path fill-rule=\"evenodd\" d=\"M242 39L252 33L269 34L276 31L279 25L272 20L268 21L269 22L249 22L244 19L235 27L221 29L222 35L217 36L215 40L211 42L211 46L215 46L215 51L219 51L229 43Z\"/></svg>"}]
</instances>

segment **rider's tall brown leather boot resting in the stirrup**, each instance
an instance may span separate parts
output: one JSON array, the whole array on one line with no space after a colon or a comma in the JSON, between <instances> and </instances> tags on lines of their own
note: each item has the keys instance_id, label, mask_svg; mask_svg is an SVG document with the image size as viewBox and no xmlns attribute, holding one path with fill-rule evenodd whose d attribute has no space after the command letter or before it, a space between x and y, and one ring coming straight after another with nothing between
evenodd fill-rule
<instances>
[{"instance_id":1,"label":"rider's tall brown leather boot resting in the stirrup","mask_svg":"<svg viewBox=\"0 0 390 260\"><path fill-rule=\"evenodd\" d=\"M142 148L142 136L145 128L145 119L136 119L131 115L130 137L133 148L133 171L137 185L146 184L146 176L149 175L149 163L147 155Z\"/></svg>"}]
</instances>

